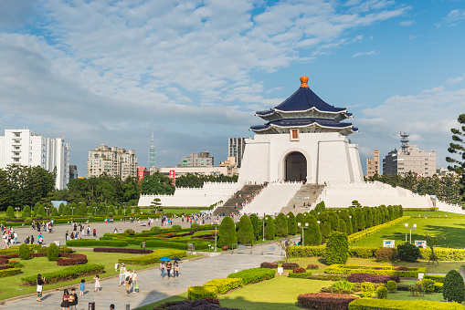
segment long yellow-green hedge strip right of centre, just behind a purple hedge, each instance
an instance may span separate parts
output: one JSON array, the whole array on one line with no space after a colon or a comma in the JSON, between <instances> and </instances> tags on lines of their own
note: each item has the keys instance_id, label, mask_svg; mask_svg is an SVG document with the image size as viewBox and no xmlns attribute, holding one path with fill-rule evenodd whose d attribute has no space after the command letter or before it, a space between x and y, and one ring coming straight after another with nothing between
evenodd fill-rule
<instances>
[{"instance_id":1,"label":"long yellow-green hedge strip right of centre, just behind a purple hedge","mask_svg":"<svg viewBox=\"0 0 465 310\"><path fill-rule=\"evenodd\" d=\"M426 268L409 267L407 271L395 270L392 266L370 266L357 264L332 264L324 270L325 274L387 274L401 277L418 277L426 273Z\"/></svg>"}]
</instances>

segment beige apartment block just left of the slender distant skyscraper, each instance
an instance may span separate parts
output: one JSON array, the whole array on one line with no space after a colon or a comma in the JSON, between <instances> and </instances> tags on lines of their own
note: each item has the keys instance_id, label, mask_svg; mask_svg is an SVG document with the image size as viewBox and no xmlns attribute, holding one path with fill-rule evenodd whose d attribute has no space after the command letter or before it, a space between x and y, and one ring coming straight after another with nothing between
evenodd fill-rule
<instances>
[{"instance_id":1,"label":"beige apartment block just left of the slender distant skyscraper","mask_svg":"<svg viewBox=\"0 0 465 310\"><path fill-rule=\"evenodd\" d=\"M105 144L100 144L95 150L90 150L87 160L87 177L98 177L102 173L119 177L122 180L127 177L137 177L135 150L126 151L126 149L108 147Z\"/></svg>"}]
</instances>

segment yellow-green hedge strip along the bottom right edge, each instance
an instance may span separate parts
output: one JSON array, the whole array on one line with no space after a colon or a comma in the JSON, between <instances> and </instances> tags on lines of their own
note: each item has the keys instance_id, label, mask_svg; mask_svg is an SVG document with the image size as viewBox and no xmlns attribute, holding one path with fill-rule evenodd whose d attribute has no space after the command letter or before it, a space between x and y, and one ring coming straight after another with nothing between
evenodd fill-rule
<instances>
[{"instance_id":1,"label":"yellow-green hedge strip along the bottom right edge","mask_svg":"<svg viewBox=\"0 0 465 310\"><path fill-rule=\"evenodd\" d=\"M361 298L349 304L349 310L463 310L459 303L430 302L426 300L387 300Z\"/></svg>"}]
</instances>

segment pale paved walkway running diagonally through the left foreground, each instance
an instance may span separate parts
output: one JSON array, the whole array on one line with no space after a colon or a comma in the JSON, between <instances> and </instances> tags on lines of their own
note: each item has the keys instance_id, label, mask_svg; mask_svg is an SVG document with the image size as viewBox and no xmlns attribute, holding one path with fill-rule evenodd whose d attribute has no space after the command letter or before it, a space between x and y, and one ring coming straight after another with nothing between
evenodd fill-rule
<instances>
[{"instance_id":1,"label":"pale paved walkway running diagonally through the left foreground","mask_svg":"<svg viewBox=\"0 0 465 310\"><path fill-rule=\"evenodd\" d=\"M265 250L265 253L262 252ZM126 309L124 305L131 305L131 309L148 305L175 294L187 291L192 285L202 285L207 281L235 271L259 267L263 262L274 262L281 256L280 247L274 246L274 251L268 252L269 244L255 246L252 254L223 253L205 259L195 260L179 265L179 277L164 279L158 269L151 269L137 274L140 293L127 294L125 286L118 286L118 278L100 281L101 291L93 292L94 284L86 284L86 293L79 296L78 309L88 309L90 302L95 302L97 310L107 310L114 304L116 309ZM75 285L79 294L79 281ZM47 289L47 285L44 287ZM59 309L62 292L46 293L41 303L37 303L36 297L25 297L16 301L0 305L0 309Z\"/></svg>"}]
</instances>

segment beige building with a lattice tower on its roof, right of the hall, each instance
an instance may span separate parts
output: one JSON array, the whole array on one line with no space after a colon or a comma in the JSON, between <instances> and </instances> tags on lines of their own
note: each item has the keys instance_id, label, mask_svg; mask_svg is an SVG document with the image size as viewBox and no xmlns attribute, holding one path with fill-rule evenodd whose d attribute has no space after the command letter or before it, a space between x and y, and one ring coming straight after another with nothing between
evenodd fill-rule
<instances>
[{"instance_id":1,"label":"beige building with a lattice tower on its roof, right of the hall","mask_svg":"<svg viewBox=\"0 0 465 310\"><path fill-rule=\"evenodd\" d=\"M400 149L391 150L383 159L383 173L405 175L408 171L430 177L436 173L436 151L419 150L416 144L408 144L408 135L401 132Z\"/></svg>"}]
</instances>

